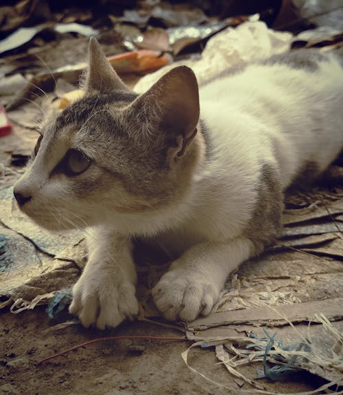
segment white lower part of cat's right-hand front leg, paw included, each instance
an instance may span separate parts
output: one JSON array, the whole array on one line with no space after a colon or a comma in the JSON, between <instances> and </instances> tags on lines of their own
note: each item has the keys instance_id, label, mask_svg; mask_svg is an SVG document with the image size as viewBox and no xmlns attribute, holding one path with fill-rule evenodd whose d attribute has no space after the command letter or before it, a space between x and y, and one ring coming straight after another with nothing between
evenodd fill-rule
<instances>
[{"instance_id":1,"label":"white lower part of cat's right-hand front leg, paw included","mask_svg":"<svg viewBox=\"0 0 343 395\"><path fill-rule=\"evenodd\" d=\"M152 290L156 306L168 320L190 321L207 315L217 302L230 274L255 255L255 244L245 237L227 243L192 246L171 264Z\"/></svg>"}]
</instances>

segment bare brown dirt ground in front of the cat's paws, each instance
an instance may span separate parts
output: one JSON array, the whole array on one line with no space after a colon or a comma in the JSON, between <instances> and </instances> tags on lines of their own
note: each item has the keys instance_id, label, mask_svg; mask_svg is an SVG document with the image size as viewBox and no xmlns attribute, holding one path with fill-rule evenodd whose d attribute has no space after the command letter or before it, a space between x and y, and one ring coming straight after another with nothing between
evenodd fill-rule
<instances>
[{"instance_id":1,"label":"bare brown dirt ground in front of the cat's paws","mask_svg":"<svg viewBox=\"0 0 343 395\"><path fill-rule=\"evenodd\" d=\"M239 387L226 368L217 363L212 348L193 348L189 364L220 387L191 372L181 353L185 341L107 340L71 351L37 365L54 353L82 342L109 335L180 336L180 331L149 322L128 322L112 331L84 329L74 324L55 329L71 317L62 314L50 320L44 307L0 316L0 394L6 395L221 395L239 394ZM261 366L260 366L261 368ZM242 369L256 377L256 366ZM299 374L287 383L260 381L271 392L305 392L320 385L315 377Z\"/></svg>"}]
</instances>

